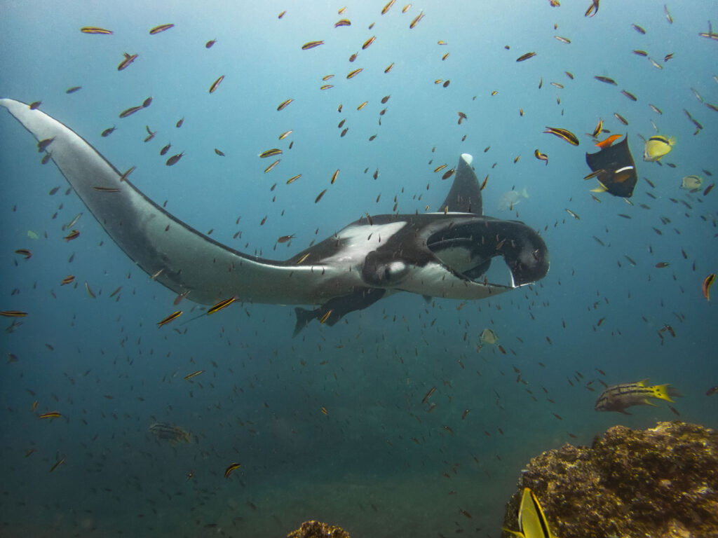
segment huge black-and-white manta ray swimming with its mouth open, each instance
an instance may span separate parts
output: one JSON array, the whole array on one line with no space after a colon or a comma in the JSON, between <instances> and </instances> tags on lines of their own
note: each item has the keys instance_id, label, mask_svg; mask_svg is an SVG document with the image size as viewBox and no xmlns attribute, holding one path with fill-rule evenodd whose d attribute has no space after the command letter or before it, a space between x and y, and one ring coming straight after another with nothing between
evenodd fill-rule
<instances>
[{"instance_id":1,"label":"huge black-and-white manta ray swimming with its mouth open","mask_svg":"<svg viewBox=\"0 0 718 538\"><path fill-rule=\"evenodd\" d=\"M495 296L543 278L544 240L523 222L482 215L479 184L463 154L439 212L384 214L352 222L326 240L275 261L233 250L147 198L93 146L42 110L0 99L44 146L116 244L149 275L196 303L226 298L297 308L297 334L314 318L335 324L398 291L463 300ZM478 281L502 256L510 285Z\"/></svg>"}]
</instances>

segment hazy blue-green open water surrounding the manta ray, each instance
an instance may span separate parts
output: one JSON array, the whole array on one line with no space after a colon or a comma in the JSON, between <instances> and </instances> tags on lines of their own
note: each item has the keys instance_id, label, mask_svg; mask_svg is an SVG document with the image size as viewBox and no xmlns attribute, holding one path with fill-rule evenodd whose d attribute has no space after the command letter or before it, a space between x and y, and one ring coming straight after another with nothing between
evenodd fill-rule
<instances>
[{"instance_id":1,"label":"hazy blue-green open water surrounding the manta ray","mask_svg":"<svg viewBox=\"0 0 718 538\"><path fill-rule=\"evenodd\" d=\"M551 266L482 301L395 293L294 338L292 305L202 316L0 110L0 534L281 537L317 519L499 537L532 456L617 424L716 428L716 4L551 4L3 1L0 97L135 166L146 197L217 242L285 260L365 215L437 211L471 154L484 213L536 230ZM612 134L630 199L584 180ZM489 278L507 275L495 259ZM682 397L594 409L646 378Z\"/></svg>"}]
</instances>

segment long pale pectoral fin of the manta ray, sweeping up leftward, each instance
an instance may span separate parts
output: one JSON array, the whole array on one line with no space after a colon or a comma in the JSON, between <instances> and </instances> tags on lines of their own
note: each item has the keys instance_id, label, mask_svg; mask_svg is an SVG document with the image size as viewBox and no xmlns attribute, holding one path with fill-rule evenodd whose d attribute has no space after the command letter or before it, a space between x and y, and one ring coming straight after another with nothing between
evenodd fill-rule
<instances>
[{"instance_id":1,"label":"long pale pectoral fin of the manta ray, sweeping up leftward","mask_svg":"<svg viewBox=\"0 0 718 538\"><path fill-rule=\"evenodd\" d=\"M337 293L336 266L277 262L246 255L210 239L139 191L87 141L42 110L0 99L52 152L52 161L114 242L149 275L196 303L239 301L314 304ZM134 176L141 174L136 171Z\"/></svg>"}]
</instances>

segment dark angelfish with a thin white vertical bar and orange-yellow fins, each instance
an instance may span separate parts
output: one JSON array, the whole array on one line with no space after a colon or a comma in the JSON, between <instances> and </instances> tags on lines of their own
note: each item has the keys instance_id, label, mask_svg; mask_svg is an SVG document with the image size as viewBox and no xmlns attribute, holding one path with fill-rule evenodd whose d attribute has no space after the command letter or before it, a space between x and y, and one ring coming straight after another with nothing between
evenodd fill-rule
<instances>
[{"instance_id":1,"label":"dark angelfish with a thin white vertical bar and orange-yellow fins","mask_svg":"<svg viewBox=\"0 0 718 538\"><path fill-rule=\"evenodd\" d=\"M617 144L586 154L586 163L598 172L596 179L614 196L630 198L638 182L633 156L628 148L628 135Z\"/></svg>"}]
</instances>

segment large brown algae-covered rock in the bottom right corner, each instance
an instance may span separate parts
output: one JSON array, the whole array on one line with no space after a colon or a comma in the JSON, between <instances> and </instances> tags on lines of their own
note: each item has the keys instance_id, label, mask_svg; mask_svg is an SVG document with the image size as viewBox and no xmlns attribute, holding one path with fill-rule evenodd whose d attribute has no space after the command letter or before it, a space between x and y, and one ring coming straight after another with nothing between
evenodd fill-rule
<instances>
[{"instance_id":1,"label":"large brown algae-covered rock in the bottom right corner","mask_svg":"<svg viewBox=\"0 0 718 538\"><path fill-rule=\"evenodd\" d=\"M518 486L508 529L516 529L528 487L557 537L718 538L718 433L677 421L615 426L591 447L567 444L531 458Z\"/></svg>"}]
</instances>

